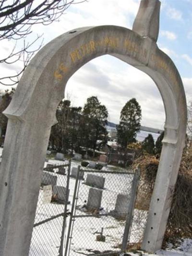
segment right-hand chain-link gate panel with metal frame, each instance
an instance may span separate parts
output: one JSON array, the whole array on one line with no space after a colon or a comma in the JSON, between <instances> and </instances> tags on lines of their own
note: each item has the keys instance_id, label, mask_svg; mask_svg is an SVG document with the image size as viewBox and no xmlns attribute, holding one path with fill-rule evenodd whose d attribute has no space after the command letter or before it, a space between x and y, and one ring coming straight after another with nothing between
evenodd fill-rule
<instances>
[{"instance_id":1,"label":"right-hand chain-link gate panel with metal frame","mask_svg":"<svg viewBox=\"0 0 192 256\"><path fill-rule=\"evenodd\" d=\"M78 167L64 256L107 256L126 250L138 183L138 170Z\"/></svg>"}]
</instances>

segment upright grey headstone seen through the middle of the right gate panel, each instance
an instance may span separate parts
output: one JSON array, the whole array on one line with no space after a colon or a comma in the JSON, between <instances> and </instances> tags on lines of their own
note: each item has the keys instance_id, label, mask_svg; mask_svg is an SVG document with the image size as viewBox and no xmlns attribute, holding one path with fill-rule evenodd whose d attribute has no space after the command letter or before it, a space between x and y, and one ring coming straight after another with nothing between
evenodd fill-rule
<instances>
[{"instance_id":1,"label":"upright grey headstone seen through the middle of the right gate panel","mask_svg":"<svg viewBox=\"0 0 192 256\"><path fill-rule=\"evenodd\" d=\"M101 207L103 190L97 188L90 188L87 200L87 209L98 210Z\"/></svg>"}]
</instances>

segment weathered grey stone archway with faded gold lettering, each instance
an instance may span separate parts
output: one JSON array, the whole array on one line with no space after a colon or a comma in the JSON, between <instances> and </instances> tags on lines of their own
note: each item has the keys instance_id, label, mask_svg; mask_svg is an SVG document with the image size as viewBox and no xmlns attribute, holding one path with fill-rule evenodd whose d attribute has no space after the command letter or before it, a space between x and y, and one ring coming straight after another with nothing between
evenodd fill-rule
<instances>
[{"instance_id":1,"label":"weathered grey stone archway with faded gold lettering","mask_svg":"<svg viewBox=\"0 0 192 256\"><path fill-rule=\"evenodd\" d=\"M156 45L159 9L159 0L142 0L133 30L98 26L67 32L28 65L4 112L9 122L0 167L0 255L28 255L57 105L72 74L105 54L147 73L164 102L165 136L143 241L148 252L161 247L184 146L186 99L174 63Z\"/></svg>"}]
</instances>

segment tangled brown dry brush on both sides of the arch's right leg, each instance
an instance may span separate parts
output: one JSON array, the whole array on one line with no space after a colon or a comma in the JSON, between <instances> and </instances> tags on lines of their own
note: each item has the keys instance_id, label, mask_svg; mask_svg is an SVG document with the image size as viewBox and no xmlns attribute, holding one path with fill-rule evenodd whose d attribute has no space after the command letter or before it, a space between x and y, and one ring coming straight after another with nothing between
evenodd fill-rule
<instances>
[{"instance_id":1,"label":"tangled brown dry brush on both sides of the arch's right leg","mask_svg":"<svg viewBox=\"0 0 192 256\"><path fill-rule=\"evenodd\" d=\"M136 208L147 211L158 169L158 156L144 155L136 159L133 166L140 166L141 180ZM180 163L173 200L168 218L164 242L192 238L192 143L185 148Z\"/></svg>"}]
</instances>

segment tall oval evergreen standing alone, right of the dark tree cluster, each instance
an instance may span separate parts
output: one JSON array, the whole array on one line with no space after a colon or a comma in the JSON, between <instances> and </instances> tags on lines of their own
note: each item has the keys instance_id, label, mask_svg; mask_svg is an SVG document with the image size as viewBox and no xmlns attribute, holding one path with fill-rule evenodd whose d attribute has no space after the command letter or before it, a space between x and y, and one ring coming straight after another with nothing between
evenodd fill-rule
<instances>
[{"instance_id":1,"label":"tall oval evergreen standing alone, right of the dark tree cluster","mask_svg":"<svg viewBox=\"0 0 192 256\"><path fill-rule=\"evenodd\" d=\"M117 125L117 137L120 146L127 150L127 145L136 142L137 132L141 127L141 107L135 98L130 99L120 112Z\"/></svg>"}]
</instances>

